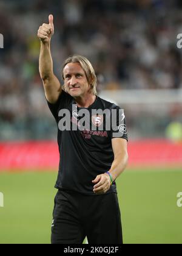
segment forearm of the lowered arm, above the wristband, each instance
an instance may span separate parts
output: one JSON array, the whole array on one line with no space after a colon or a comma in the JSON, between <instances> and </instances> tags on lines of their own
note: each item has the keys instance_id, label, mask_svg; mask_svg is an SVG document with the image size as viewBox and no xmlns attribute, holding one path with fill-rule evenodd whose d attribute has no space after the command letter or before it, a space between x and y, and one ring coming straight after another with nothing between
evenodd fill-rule
<instances>
[{"instance_id":1,"label":"forearm of the lowered arm, above the wristband","mask_svg":"<svg viewBox=\"0 0 182 256\"><path fill-rule=\"evenodd\" d=\"M116 155L112 166L109 170L112 175L113 180L115 180L120 174L124 171L128 162L128 154L127 152L123 152L121 154Z\"/></svg>"}]
</instances>

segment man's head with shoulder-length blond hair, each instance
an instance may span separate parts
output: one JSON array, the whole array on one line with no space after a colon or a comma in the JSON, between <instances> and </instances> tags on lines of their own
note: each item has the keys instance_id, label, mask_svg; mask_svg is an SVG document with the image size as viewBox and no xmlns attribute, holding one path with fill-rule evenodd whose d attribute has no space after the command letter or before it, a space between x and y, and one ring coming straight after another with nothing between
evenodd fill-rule
<instances>
[{"instance_id":1,"label":"man's head with shoulder-length blond hair","mask_svg":"<svg viewBox=\"0 0 182 256\"><path fill-rule=\"evenodd\" d=\"M81 55L69 57L62 68L63 89L72 97L96 95L97 79L92 64Z\"/></svg>"}]
</instances>

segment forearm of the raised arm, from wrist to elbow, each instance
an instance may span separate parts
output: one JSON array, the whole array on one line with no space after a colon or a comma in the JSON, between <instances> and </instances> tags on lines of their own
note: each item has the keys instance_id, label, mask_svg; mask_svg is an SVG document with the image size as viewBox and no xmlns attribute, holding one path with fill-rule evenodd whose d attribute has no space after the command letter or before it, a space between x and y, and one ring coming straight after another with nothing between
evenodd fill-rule
<instances>
[{"instance_id":1,"label":"forearm of the raised arm, from wrist to elbow","mask_svg":"<svg viewBox=\"0 0 182 256\"><path fill-rule=\"evenodd\" d=\"M50 52L50 43L41 42L39 73L42 80L49 79L49 77L53 76L53 61Z\"/></svg>"}]
</instances>

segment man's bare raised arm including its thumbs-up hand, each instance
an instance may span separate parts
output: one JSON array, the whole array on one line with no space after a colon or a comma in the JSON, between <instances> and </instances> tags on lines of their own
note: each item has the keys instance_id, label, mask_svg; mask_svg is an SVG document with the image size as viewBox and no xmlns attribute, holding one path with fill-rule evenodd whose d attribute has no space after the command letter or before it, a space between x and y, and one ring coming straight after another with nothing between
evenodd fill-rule
<instances>
[{"instance_id":1,"label":"man's bare raised arm including its thumbs-up hand","mask_svg":"<svg viewBox=\"0 0 182 256\"><path fill-rule=\"evenodd\" d=\"M58 101L62 91L61 84L53 73L53 61L50 52L50 41L53 34L53 15L49 15L49 24L42 24L38 30L38 38L41 40L39 73L44 84L45 97L52 104Z\"/></svg>"}]
</instances>

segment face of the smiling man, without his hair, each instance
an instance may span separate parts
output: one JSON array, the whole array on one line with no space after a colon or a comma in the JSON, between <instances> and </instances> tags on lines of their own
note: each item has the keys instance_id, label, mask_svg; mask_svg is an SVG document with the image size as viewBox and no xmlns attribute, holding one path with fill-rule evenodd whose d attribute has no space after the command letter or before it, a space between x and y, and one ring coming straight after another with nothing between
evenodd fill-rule
<instances>
[{"instance_id":1,"label":"face of the smiling man, without his hair","mask_svg":"<svg viewBox=\"0 0 182 256\"><path fill-rule=\"evenodd\" d=\"M83 97L89 93L90 86L86 74L79 63L68 63L63 70L67 93L72 97Z\"/></svg>"}]
</instances>

